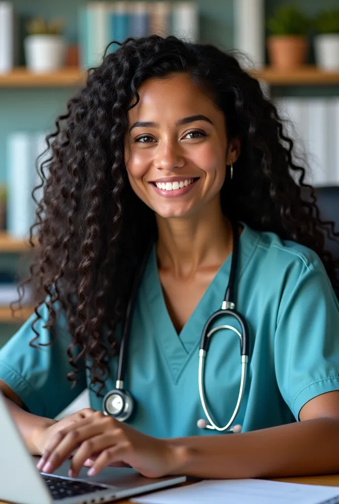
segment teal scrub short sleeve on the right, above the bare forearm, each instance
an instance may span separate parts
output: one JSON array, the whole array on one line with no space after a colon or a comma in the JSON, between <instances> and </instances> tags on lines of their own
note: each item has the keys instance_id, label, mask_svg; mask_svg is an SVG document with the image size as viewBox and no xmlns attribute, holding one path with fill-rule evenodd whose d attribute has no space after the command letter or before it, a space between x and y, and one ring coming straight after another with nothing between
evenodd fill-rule
<instances>
[{"instance_id":1,"label":"teal scrub short sleeve on the right, above the bare forearm","mask_svg":"<svg viewBox=\"0 0 339 504\"><path fill-rule=\"evenodd\" d=\"M299 420L309 400L339 390L339 305L318 256L297 262L277 321L274 364L280 393Z\"/></svg>"}]
</instances>

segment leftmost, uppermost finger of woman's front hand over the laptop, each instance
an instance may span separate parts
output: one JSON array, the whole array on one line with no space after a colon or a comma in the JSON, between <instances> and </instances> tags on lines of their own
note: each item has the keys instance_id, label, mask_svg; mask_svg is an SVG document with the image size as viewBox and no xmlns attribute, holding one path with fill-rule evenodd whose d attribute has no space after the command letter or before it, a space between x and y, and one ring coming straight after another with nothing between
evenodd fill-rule
<instances>
[{"instance_id":1,"label":"leftmost, uppermost finger of woman's front hand over the laptop","mask_svg":"<svg viewBox=\"0 0 339 504\"><path fill-rule=\"evenodd\" d=\"M66 430L66 429L65 429ZM100 424L90 423L83 427L73 428L65 432L64 429L57 432L47 447L47 460L42 472L50 473L59 467L81 443L102 431Z\"/></svg>"}]
</instances>

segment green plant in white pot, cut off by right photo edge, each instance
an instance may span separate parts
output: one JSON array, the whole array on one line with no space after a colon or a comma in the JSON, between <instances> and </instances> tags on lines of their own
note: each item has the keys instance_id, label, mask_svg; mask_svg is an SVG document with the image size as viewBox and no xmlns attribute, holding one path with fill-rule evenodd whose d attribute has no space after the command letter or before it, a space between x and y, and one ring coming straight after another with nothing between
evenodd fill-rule
<instances>
[{"instance_id":1,"label":"green plant in white pot, cut off by right photo edge","mask_svg":"<svg viewBox=\"0 0 339 504\"><path fill-rule=\"evenodd\" d=\"M339 9L323 10L315 19L314 55L318 67L339 69Z\"/></svg>"}]
</instances>

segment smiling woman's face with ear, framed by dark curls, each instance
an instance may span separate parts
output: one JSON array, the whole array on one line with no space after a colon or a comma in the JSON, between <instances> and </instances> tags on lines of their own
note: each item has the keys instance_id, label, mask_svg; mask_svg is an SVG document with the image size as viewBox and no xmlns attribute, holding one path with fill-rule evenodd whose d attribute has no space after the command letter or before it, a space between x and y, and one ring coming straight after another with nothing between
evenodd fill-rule
<instances>
[{"instance_id":1,"label":"smiling woman's face with ear, framed by dark curls","mask_svg":"<svg viewBox=\"0 0 339 504\"><path fill-rule=\"evenodd\" d=\"M149 79L138 92L125 140L131 186L161 217L191 215L218 197L237 157L232 145L226 157L224 115L187 74Z\"/></svg>"}]
</instances>

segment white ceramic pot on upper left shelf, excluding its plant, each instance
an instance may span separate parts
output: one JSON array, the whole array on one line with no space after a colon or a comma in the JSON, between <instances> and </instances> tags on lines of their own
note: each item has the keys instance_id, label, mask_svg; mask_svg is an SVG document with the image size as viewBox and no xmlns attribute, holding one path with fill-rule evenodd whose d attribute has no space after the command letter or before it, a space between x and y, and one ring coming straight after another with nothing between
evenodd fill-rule
<instances>
[{"instance_id":1,"label":"white ceramic pot on upper left shelf, excluding its plant","mask_svg":"<svg viewBox=\"0 0 339 504\"><path fill-rule=\"evenodd\" d=\"M51 72L65 65L66 43L60 35L28 35L24 46L26 65L31 72Z\"/></svg>"}]
</instances>

